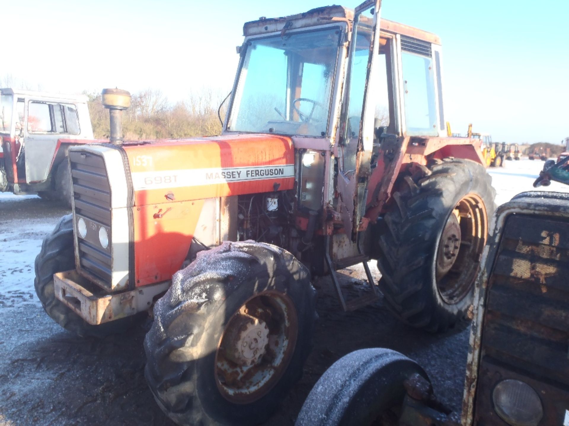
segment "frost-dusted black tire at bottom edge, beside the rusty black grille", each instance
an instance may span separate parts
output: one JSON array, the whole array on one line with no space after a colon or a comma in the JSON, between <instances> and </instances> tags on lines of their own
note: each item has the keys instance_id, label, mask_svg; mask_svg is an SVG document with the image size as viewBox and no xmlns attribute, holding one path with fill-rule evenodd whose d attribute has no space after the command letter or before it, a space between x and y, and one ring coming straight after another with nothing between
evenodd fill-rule
<instances>
[{"instance_id":1,"label":"frost-dusted black tire at bottom edge, beside the rusty black grille","mask_svg":"<svg viewBox=\"0 0 569 426\"><path fill-rule=\"evenodd\" d=\"M349 353L318 379L295 426L398 424L397 409L407 394L404 383L415 374L429 382L417 362L394 350Z\"/></svg>"}]
</instances>

